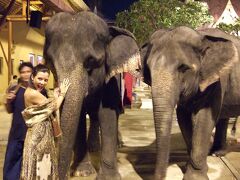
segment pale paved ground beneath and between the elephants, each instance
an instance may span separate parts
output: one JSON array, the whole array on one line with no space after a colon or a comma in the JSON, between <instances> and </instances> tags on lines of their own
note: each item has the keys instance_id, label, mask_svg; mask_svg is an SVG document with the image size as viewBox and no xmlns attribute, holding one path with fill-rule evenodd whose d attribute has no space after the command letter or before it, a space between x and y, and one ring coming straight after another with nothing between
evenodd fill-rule
<instances>
[{"instance_id":1,"label":"pale paved ground beneath and between the elephants","mask_svg":"<svg viewBox=\"0 0 240 180\"><path fill-rule=\"evenodd\" d=\"M0 179L2 179L2 166L6 148L7 134L11 116L0 106ZM118 164L123 180L151 180L153 179L155 164L155 133L152 119L152 110L127 109L120 117L120 131L122 132L124 147L119 149ZM230 125L231 126L231 125ZM238 128L240 131L240 127ZM237 134L239 135L239 134ZM240 137L240 136L237 136ZM225 157L209 156L208 175L210 180L240 179L240 144L236 138L229 135L228 143L231 144ZM93 164L98 169L98 154L91 154ZM185 161L188 156L185 144L179 132L177 121L174 121L171 138L171 156L168 167L167 180L180 180L183 177ZM72 180L92 180L95 175L87 178L71 178Z\"/></svg>"}]
</instances>

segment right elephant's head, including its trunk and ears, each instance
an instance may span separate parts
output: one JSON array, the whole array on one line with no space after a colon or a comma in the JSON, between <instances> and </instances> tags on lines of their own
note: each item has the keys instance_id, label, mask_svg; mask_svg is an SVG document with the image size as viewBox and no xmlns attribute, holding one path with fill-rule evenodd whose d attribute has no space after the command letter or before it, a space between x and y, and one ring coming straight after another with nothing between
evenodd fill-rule
<instances>
[{"instance_id":1,"label":"right elephant's head, including its trunk and ears","mask_svg":"<svg viewBox=\"0 0 240 180\"><path fill-rule=\"evenodd\" d=\"M155 179L164 179L175 106L227 76L238 61L238 53L231 41L182 26L155 32L142 47L141 56L145 81L152 86L157 138Z\"/></svg>"}]
</instances>

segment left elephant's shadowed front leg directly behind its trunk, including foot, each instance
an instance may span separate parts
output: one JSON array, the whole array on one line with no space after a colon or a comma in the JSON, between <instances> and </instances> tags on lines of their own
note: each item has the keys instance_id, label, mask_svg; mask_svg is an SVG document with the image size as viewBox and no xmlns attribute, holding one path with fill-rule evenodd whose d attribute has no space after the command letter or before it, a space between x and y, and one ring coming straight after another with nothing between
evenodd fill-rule
<instances>
[{"instance_id":1,"label":"left elephant's shadowed front leg directly behind its trunk, including foot","mask_svg":"<svg viewBox=\"0 0 240 180\"><path fill-rule=\"evenodd\" d=\"M82 110L74 146L74 158L71 166L73 176L90 176L96 173L91 164L87 146L86 111Z\"/></svg>"}]
</instances>

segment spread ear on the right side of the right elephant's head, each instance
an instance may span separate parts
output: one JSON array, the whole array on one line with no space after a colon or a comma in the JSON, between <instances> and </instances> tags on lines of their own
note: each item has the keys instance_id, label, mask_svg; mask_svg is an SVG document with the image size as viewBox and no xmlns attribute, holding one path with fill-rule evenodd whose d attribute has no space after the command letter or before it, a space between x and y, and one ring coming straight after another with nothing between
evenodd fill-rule
<instances>
[{"instance_id":1,"label":"spread ear on the right side of the right elephant's head","mask_svg":"<svg viewBox=\"0 0 240 180\"><path fill-rule=\"evenodd\" d=\"M239 55L231 41L220 37L204 36L201 46L199 86L200 90L204 91L221 76L228 75L234 64L239 61Z\"/></svg>"}]
</instances>

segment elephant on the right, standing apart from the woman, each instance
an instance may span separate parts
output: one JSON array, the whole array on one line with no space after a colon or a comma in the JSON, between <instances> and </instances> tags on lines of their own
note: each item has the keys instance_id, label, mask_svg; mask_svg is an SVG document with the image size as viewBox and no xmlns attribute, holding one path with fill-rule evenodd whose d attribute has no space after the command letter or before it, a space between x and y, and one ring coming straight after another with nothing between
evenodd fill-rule
<instances>
[{"instance_id":1,"label":"elephant on the right, standing apart from the woman","mask_svg":"<svg viewBox=\"0 0 240 180\"><path fill-rule=\"evenodd\" d=\"M166 177L175 108L190 155L183 179L208 179L212 131L240 113L239 42L217 29L179 26L154 32L142 46L142 73L152 87L155 179Z\"/></svg>"}]
</instances>

